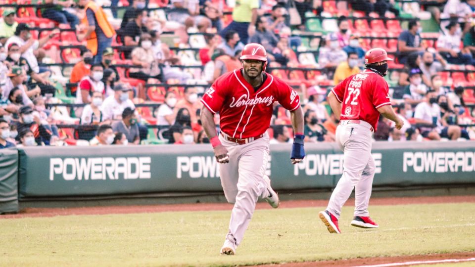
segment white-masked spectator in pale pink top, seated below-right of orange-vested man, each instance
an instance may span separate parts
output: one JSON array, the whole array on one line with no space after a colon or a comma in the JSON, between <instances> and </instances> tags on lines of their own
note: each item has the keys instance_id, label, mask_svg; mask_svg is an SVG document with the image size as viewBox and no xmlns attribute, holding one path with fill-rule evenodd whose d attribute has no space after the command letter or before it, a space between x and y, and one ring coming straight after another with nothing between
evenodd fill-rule
<instances>
[{"instance_id":1,"label":"white-masked spectator in pale pink top, seated below-right of orange-vested man","mask_svg":"<svg viewBox=\"0 0 475 267\"><path fill-rule=\"evenodd\" d=\"M155 59L152 49L150 34L143 33L141 35L139 47L134 48L132 51L132 64L141 68L131 68L129 71L130 78L140 79L145 82L149 79L156 79L159 81L162 79L161 69L158 66L158 60Z\"/></svg>"}]
</instances>

